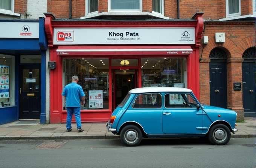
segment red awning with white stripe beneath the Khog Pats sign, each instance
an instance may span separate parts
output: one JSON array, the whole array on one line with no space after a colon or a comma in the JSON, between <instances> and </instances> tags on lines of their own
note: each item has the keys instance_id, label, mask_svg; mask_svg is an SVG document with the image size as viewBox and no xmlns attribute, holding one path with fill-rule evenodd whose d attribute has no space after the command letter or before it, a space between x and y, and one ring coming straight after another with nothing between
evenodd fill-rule
<instances>
[{"instance_id":1,"label":"red awning with white stripe beneath the Khog Pats sign","mask_svg":"<svg viewBox=\"0 0 256 168\"><path fill-rule=\"evenodd\" d=\"M57 55L190 55L190 46L59 46Z\"/></svg>"}]
</instances>

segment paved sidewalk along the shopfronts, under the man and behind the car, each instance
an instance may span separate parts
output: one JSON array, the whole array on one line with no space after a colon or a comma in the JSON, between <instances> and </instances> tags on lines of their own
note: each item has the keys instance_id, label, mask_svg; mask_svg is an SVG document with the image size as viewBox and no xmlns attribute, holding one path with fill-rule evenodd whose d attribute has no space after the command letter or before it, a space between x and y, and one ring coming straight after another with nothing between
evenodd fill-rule
<instances>
[{"instance_id":1,"label":"paved sidewalk along the shopfronts, under the man and behind the car","mask_svg":"<svg viewBox=\"0 0 256 168\"><path fill-rule=\"evenodd\" d=\"M235 134L231 138L256 138L256 118L244 118L244 123L237 123ZM116 139L119 136L108 132L107 122L82 123L84 132L77 132L76 123L73 130L66 132L66 123L40 124L40 120L20 120L0 125L0 140L19 139Z\"/></svg>"}]
</instances>

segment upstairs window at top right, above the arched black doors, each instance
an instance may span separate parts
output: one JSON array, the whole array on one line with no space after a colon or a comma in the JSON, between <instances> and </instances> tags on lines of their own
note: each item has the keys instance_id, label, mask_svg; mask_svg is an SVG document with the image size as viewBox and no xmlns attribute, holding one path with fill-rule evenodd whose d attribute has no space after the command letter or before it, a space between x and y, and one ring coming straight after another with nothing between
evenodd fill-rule
<instances>
[{"instance_id":1,"label":"upstairs window at top right, above the arched black doors","mask_svg":"<svg viewBox=\"0 0 256 168\"><path fill-rule=\"evenodd\" d=\"M241 0L226 0L226 17L241 15Z\"/></svg>"}]
</instances>

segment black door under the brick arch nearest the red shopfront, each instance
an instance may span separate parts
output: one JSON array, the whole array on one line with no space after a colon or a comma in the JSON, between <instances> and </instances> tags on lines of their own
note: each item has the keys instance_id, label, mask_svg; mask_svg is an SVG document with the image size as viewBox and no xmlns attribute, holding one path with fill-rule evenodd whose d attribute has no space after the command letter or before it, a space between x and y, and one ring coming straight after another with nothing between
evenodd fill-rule
<instances>
[{"instance_id":1,"label":"black door under the brick arch nearest the red shopfront","mask_svg":"<svg viewBox=\"0 0 256 168\"><path fill-rule=\"evenodd\" d=\"M210 62L210 105L227 108L226 62Z\"/></svg>"}]
</instances>

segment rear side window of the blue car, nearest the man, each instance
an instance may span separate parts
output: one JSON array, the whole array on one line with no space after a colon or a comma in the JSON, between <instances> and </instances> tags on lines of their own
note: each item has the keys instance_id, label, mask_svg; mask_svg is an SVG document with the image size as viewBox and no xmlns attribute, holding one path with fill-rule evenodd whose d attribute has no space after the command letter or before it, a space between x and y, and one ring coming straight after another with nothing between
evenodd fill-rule
<instances>
[{"instance_id":1,"label":"rear side window of the blue car, nearest the man","mask_svg":"<svg viewBox=\"0 0 256 168\"><path fill-rule=\"evenodd\" d=\"M138 95L133 102L133 108L161 108L162 95L159 93L148 93Z\"/></svg>"}]
</instances>

